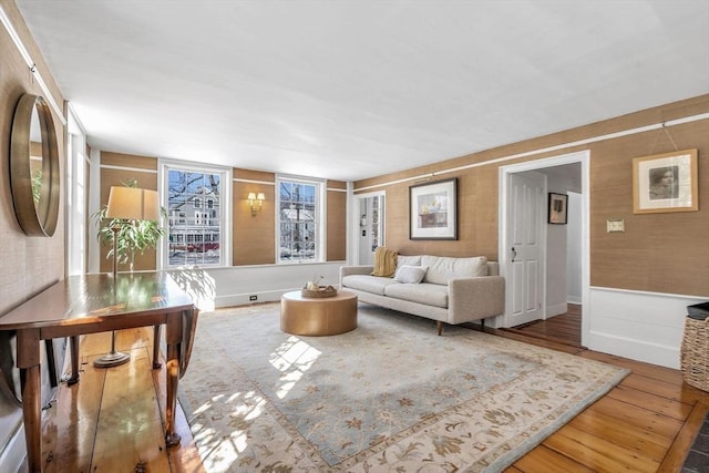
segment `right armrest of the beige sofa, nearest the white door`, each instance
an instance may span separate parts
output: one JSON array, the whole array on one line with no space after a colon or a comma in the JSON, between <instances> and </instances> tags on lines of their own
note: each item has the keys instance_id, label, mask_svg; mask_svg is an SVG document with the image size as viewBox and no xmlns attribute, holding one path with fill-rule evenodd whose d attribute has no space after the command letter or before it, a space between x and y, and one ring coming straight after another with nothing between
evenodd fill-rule
<instances>
[{"instance_id":1,"label":"right armrest of the beige sofa, nearest the white door","mask_svg":"<svg viewBox=\"0 0 709 473\"><path fill-rule=\"evenodd\" d=\"M458 278L448 282L449 323L462 323L499 316L505 309L502 276Z\"/></svg>"}]
</instances>

